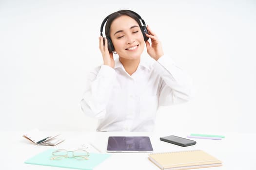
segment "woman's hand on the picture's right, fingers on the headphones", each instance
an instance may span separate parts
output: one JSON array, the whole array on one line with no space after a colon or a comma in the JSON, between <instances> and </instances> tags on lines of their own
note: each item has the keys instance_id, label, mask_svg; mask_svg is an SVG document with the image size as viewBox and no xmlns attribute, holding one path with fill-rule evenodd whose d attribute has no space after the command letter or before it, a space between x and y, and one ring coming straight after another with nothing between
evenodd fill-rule
<instances>
[{"instance_id":1,"label":"woman's hand on the picture's right, fingers on the headphones","mask_svg":"<svg viewBox=\"0 0 256 170\"><path fill-rule=\"evenodd\" d=\"M147 52L152 58L158 60L161 56L163 56L161 42L158 40L158 36L154 32L152 32L149 26L147 26L147 30L149 34L146 34L146 36L151 39L151 46L150 43L146 41Z\"/></svg>"}]
</instances>

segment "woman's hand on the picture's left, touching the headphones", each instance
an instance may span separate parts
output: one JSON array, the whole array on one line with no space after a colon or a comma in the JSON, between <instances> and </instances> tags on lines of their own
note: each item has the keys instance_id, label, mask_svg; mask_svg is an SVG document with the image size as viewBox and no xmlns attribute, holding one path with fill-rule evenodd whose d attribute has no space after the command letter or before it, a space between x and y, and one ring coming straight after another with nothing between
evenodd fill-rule
<instances>
[{"instance_id":1,"label":"woman's hand on the picture's left, touching the headphones","mask_svg":"<svg viewBox=\"0 0 256 170\"><path fill-rule=\"evenodd\" d=\"M103 57L103 63L104 65L110 66L111 68L115 67L115 60L113 58L113 52L108 51L108 41L105 39L105 46L103 45L103 37L99 36L99 50L101 51L102 57Z\"/></svg>"}]
</instances>

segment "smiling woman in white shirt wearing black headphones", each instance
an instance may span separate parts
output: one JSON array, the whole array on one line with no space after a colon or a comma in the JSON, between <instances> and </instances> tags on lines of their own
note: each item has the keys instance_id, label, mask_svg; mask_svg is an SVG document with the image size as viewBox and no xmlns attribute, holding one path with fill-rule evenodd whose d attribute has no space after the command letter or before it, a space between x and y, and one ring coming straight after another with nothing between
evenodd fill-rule
<instances>
[{"instance_id":1,"label":"smiling woman in white shirt wearing black headphones","mask_svg":"<svg viewBox=\"0 0 256 170\"><path fill-rule=\"evenodd\" d=\"M82 110L98 119L97 131L153 131L160 105L189 100L187 76L164 55L157 35L137 13L115 12L101 31L105 21L107 38L99 37L103 65L88 76ZM151 62L141 59L145 44Z\"/></svg>"}]
</instances>

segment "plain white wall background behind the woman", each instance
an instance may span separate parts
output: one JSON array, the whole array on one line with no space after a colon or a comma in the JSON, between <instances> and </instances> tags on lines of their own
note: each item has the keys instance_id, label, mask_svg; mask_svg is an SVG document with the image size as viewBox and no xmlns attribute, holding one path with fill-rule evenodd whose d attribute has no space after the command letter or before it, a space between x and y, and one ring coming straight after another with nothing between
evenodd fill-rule
<instances>
[{"instance_id":1,"label":"plain white wall background behind the woman","mask_svg":"<svg viewBox=\"0 0 256 170\"><path fill-rule=\"evenodd\" d=\"M190 102L159 108L156 131L256 132L254 0L121 1L0 0L1 130L95 131L79 102L102 64L100 25L130 9L194 83Z\"/></svg>"}]
</instances>

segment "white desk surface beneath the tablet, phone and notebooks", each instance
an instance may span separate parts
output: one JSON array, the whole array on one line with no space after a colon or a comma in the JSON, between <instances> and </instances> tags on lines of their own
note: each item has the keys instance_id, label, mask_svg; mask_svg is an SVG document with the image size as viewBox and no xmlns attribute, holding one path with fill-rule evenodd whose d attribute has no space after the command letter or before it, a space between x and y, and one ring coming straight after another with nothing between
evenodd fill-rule
<instances>
[{"instance_id":1,"label":"white desk surface beneath the tablet, phone and notebooks","mask_svg":"<svg viewBox=\"0 0 256 170\"><path fill-rule=\"evenodd\" d=\"M82 144L93 143L106 153L108 136L150 136L154 153L186 150L203 150L223 162L222 167L200 170L255 170L256 134L219 134L222 140L193 139L197 144L180 147L159 140L160 136L176 135L186 137L184 133L142 133L142 132L59 132L65 141L54 146L37 146L22 137L24 132L0 131L1 170L64 170L64 168L25 164L28 158L49 148L78 149ZM90 146L89 146L90 147ZM93 150L93 148L89 148ZM96 150L94 150L97 152ZM148 153L110 153L111 156L99 164L95 170L160 170L148 159ZM70 170L70 169L67 169Z\"/></svg>"}]
</instances>

